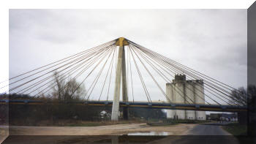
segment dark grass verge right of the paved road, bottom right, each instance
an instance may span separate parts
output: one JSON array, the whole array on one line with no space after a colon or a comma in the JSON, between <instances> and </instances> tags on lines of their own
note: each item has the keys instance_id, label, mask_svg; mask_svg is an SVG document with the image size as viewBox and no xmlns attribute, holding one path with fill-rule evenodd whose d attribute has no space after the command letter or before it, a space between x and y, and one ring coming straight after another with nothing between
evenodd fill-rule
<instances>
[{"instance_id":1,"label":"dark grass verge right of the paved road, bottom right","mask_svg":"<svg viewBox=\"0 0 256 144\"><path fill-rule=\"evenodd\" d=\"M233 134L235 136L246 135L247 134L247 126L241 125L238 123L230 123L225 126L222 126L222 129Z\"/></svg>"}]
</instances>

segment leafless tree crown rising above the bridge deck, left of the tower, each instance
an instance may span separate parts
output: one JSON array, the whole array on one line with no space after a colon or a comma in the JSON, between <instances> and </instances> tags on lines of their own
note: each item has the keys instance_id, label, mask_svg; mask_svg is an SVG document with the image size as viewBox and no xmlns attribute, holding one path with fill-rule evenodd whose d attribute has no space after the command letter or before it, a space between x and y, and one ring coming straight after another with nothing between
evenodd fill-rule
<instances>
[{"instance_id":1,"label":"leafless tree crown rising above the bridge deck, left of the tower","mask_svg":"<svg viewBox=\"0 0 256 144\"><path fill-rule=\"evenodd\" d=\"M59 102L78 101L86 94L84 85L80 85L75 79L64 79L59 76L59 72L54 72L56 86L53 87L52 96L58 99Z\"/></svg>"}]
</instances>

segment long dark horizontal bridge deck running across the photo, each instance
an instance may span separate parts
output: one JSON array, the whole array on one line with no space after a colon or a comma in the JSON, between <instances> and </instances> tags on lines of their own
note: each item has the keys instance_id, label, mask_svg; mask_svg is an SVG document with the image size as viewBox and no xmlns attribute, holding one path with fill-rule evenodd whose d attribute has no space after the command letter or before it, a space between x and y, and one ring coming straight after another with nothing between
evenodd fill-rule
<instances>
[{"instance_id":1,"label":"long dark horizontal bridge deck running across the photo","mask_svg":"<svg viewBox=\"0 0 256 144\"><path fill-rule=\"evenodd\" d=\"M11 105L45 105L54 102L31 99L0 99L0 104ZM86 101L86 102L68 102L69 104L91 105L91 106L112 106L111 101ZM59 103L64 104L64 103ZM205 105L205 104L181 104L181 103L163 103L163 102L119 102L120 107L143 107L154 109L170 110L199 110L199 111L220 111L220 112L241 112L246 111L246 106L241 105Z\"/></svg>"}]
</instances>

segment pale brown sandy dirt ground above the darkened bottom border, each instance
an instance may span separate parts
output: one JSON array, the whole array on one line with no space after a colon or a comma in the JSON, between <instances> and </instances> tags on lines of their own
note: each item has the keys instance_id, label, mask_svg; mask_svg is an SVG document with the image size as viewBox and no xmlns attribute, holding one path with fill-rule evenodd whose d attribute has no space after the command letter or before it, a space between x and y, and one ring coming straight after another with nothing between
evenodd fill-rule
<instances>
[{"instance_id":1,"label":"pale brown sandy dirt ground above the darkened bottom border","mask_svg":"<svg viewBox=\"0 0 256 144\"><path fill-rule=\"evenodd\" d=\"M121 135L132 132L168 132L170 135L187 134L197 124L148 126L117 124L110 126L10 126L11 135Z\"/></svg>"}]
</instances>

